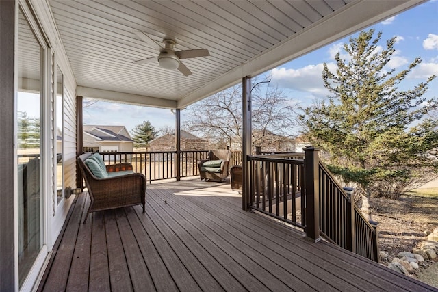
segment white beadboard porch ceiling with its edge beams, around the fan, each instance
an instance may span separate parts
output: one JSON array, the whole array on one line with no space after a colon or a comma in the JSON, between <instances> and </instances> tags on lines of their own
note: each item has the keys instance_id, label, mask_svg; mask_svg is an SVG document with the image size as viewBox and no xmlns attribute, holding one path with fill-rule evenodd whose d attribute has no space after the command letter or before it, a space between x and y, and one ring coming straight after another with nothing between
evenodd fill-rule
<instances>
[{"instance_id":1,"label":"white beadboard porch ceiling with its edge beams, around the fan","mask_svg":"<svg viewBox=\"0 0 438 292\"><path fill-rule=\"evenodd\" d=\"M155 107L183 108L266 72L422 0L65 1L49 0L77 82L77 94ZM133 33L177 40L192 75L132 64L157 57ZM315 62L318 62L315 61Z\"/></svg>"}]
</instances>

